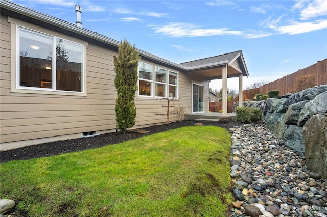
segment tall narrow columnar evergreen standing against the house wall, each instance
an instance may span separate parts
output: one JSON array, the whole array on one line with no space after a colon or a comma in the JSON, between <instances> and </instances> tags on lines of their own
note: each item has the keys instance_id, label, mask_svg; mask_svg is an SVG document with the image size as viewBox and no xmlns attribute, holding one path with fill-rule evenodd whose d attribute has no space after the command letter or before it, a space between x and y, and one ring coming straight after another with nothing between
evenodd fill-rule
<instances>
[{"instance_id":1,"label":"tall narrow columnar evergreen standing against the house wall","mask_svg":"<svg viewBox=\"0 0 327 217\"><path fill-rule=\"evenodd\" d=\"M117 89L116 122L117 128L124 133L126 129L135 125L136 107L134 103L137 91L137 66L140 57L135 45L124 39L118 47L118 57L113 56L114 85Z\"/></svg>"}]
</instances>

